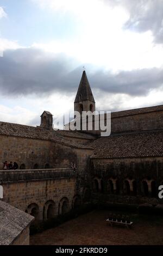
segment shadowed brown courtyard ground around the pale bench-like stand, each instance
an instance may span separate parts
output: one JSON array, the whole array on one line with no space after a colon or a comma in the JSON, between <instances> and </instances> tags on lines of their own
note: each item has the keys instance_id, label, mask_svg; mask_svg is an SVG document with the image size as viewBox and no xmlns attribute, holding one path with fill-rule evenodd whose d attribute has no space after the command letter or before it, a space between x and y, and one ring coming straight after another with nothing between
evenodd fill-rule
<instances>
[{"instance_id":1,"label":"shadowed brown courtyard ground around the pale bench-like stand","mask_svg":"<svg viewBox=\"0 0 163 256\"><path fill-rule=\"evenodd\" d=\"M115 212L122 214L122 212ZM30 245L163 245L163 217L130 214L133 227L110 227L110 212L95 210L30 236Z\"/></svg>"}]
</instances>

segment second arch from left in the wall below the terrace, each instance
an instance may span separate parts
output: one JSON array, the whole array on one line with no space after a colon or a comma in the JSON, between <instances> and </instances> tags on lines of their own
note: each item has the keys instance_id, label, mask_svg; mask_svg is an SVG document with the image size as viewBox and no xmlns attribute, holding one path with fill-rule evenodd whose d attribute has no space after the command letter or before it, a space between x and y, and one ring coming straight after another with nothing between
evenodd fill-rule
<instances>
[{"instance_id":1,"label":"second arch from left in the wall below the terrace","mask_svg":"<svg viewBox=\"0 0 163 256\"><path fill-rule=\"evenodd\" d=\"M43 206L43 220L50 220L55 216L55 203L53 200L48 200Z\"/></svg>"}]
</instances>

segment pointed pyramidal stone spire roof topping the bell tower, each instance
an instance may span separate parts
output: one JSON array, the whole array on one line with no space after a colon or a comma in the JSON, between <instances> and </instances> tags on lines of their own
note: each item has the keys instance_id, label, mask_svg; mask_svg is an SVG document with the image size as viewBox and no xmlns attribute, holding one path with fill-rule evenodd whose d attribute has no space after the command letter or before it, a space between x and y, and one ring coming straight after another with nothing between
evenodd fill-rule
<instances>
[{"instance_id":1,"label":"pointed pyramidal stone spire roof topping the bell tower","mask_svg":"<svg viewBox=\"0 0 163 256\"><path fill-rule=\"evenodd\" d=\"M86 72L83 71L83 75L79 84L78 92L76 95L76 99L74 102L84 101L84 100L90 100L92 102L95 102L92 90L89 84L89 81L87 80Z\"/></svg>"}]
</instances>

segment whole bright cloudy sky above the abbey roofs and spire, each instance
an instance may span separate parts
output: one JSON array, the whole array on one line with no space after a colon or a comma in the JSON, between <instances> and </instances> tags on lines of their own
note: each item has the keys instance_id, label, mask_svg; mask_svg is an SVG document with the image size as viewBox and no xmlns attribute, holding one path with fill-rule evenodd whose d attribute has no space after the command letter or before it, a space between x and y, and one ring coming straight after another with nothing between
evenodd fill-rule
<instances>
[{"instance_id":1,"label":"whole bright cloudy sky above the abbey roofs and spire","mask_svg":"<svg viewBox=\"0 0 163 256\"><path fill-rule=\"evenodd\" d=\"M0 0L0 120L73 110L85 66L98 110L163 104L163 0Z\"/></svg>"}]
</instances>

